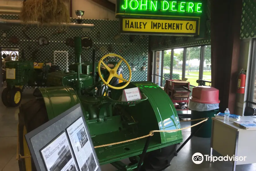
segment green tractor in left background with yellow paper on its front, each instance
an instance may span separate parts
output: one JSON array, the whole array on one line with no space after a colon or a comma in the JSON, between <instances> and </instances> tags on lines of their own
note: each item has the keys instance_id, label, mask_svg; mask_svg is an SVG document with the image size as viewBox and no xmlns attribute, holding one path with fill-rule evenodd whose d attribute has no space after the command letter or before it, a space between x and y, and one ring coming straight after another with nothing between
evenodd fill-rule
<instances>
[{"instance_id":1,"label":"green tractor in left background with yellow paper on its front","mask_svg":"<svg viewBox=\"0 0 256 171\"><path fill-rule=\"evenodd\" d=\"M5 62L7 87L2 91L3 104L7 107L18 106L25 85L46 86L46 75L49 70L49 65L35 64L23 59Z\"/></svg>"}]
</instances>

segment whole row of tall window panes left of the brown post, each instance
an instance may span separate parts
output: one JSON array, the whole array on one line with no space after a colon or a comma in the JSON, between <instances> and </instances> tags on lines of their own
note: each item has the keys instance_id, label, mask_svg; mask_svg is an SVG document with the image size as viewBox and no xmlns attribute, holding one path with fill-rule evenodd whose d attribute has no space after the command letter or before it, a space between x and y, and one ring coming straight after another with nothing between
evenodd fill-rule
<instances>
[{"instance_id":1,"label":"whole row of tall window panes left of the brown post","mask_svg":"<svg viewBox=\"0 0 256 171\"><path fill-rule=\"evenodd\" d=\"M211 46L196 46L160 50L154 52L153 81L165 86L166 79L187 78L191 89L198 86L197 80L211 81ZM210 86L210 83L205 83ZM255 90L256 91L256 90Z\"/></svg>"}]
</instances>

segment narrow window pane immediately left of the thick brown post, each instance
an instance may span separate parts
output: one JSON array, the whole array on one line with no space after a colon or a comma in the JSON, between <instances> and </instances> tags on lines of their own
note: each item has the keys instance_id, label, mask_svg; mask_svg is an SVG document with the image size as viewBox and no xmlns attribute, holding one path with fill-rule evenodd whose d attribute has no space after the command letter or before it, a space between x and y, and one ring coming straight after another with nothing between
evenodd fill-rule
<instances>
[{"instance_id":1,"label":"narrow window pane immediately left of the thick brown post","mask_svg":"<svg viewBox=\"0 0 256 171\"><path fill-rule=\"evenodd\" d=\"M211 81L211 46L204 46L204 67L203 67L203 80ZM210 86L210 83L205 83L205 85Z\"/></svg>"}]
</instances>

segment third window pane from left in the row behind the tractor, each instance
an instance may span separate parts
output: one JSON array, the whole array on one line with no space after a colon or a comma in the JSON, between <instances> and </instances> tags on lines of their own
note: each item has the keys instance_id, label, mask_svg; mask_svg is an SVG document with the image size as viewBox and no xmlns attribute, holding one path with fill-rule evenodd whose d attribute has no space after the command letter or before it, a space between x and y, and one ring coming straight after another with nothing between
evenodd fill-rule
<instances>
[{"instance_id":1,"label":"third window pane from left in the row behind the tractor","mask_svg":"<svg viewBox=\"0 0 256 171\"><path fill-rule=\"evenodd\" d=\"M184 48L174 49L173 70L172 70L173 80L182 80L183 51L184 51Z\"/></svg>"}]
</instances>

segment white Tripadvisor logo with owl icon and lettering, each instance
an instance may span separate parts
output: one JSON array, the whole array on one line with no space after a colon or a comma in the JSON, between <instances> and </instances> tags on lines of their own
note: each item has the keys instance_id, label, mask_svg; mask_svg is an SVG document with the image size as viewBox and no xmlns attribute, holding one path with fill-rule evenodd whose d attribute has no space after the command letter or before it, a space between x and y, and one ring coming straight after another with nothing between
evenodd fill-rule
<instances>
[{"instance_id":1,"label":"white Tripadvisor logo with owl icon and lettering","mask_svg":"<svg viewBox=\"0 0 256 171\"><path fill-rule=\"evenodd\" d=\"M201 164L204 159L205 161L210 161L210 162L216 162L216 161L245 161L246 156L212 156L212 155L203 155L199 152L196 152L195 154L193 154L192 156L192 161L195 164Z\"/></svg>"}]
</instances>

